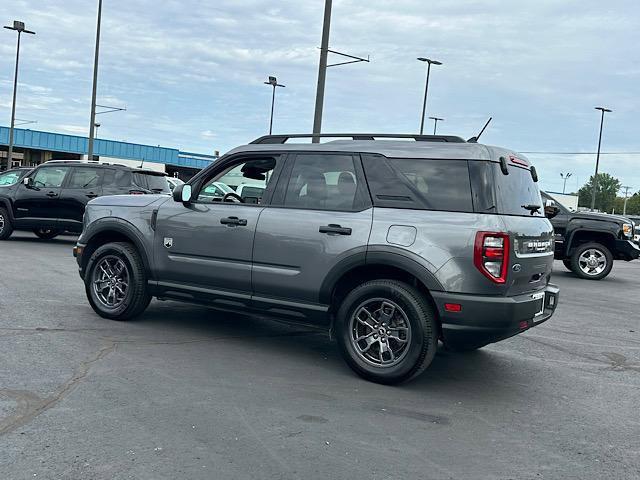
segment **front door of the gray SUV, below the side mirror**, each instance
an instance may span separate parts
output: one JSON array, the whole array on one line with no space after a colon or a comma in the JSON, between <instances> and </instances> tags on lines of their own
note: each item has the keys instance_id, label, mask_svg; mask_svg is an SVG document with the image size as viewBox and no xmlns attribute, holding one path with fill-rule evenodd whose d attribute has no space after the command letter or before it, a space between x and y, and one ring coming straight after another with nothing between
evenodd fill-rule
<instances>
[{"instance_id":1,"label":"front door of the gray SUV, below the side mirror","mask_svg":"<svg viewBox=\"0 0 640 480\"><path fill-rule=\"evenodd\" d=\"M234 191L242 182L257 181L270 192L277 162L264 156L226 161L194 181L191 202L162 204L154 245L161 289L248 305L253 239L264 201L244 203ZM212 195L214 184L227 193Z\"/></svg>"}]
</instances>

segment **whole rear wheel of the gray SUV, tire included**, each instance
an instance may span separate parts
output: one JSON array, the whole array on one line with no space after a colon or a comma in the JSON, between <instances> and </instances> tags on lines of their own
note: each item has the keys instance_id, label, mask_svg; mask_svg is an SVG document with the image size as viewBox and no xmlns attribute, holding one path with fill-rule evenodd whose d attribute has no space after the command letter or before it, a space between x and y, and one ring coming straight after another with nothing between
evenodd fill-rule
<instances>
[{"instance_id":1,"label":"whole rear wheel of the gray SUV, tire included","mask_svg":"<svg viewBox=\"0 0 640 480\"><path fill-rule=\"evenodd\" d=\"M438 346L433 309L414 287L372 280L354 288L336 316L340 353L361 377L396 384L429 366Z\"/></svg>"}]
</instances>

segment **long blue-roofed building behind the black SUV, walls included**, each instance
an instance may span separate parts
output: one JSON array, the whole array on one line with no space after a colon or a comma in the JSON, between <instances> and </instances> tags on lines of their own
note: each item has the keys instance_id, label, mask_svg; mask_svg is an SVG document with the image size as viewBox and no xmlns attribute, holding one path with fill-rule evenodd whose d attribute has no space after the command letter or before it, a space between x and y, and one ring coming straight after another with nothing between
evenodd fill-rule
<instances>
[{"instance_id":1,"label":"long blue-roofed building behind the black SUV, walls included","mask_svg":"<svg viewBox=\"0 0 640 480\"><path fill-rule=\"evenodd\" d=\"M36 166L48 160L86 158L89 139L76 135L14 128L11 167ZM9 128L0 126L0 170L6 169L9 150ZM171 176L190 178L214 162L217 155L181 152L175 148L154 147L98 138L94 141L94 159L108 163L124 163Z\"/></svg>"}]
</instances>

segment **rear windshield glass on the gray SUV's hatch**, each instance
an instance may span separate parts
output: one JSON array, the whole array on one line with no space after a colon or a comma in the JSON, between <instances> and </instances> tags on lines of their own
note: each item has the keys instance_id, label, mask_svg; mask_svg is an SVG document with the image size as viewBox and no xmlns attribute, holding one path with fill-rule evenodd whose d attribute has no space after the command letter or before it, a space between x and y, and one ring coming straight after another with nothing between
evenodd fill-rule
<instances>
[{"instance_id":1,"label":"rear windshield glass on the gray SUV's hatch","mask_svg":"<svg viewBox=\"0 0 640 480\"><path fill-rule=\"evenodd\" d=\"M540 190L533 181L531 172L514 165L509 165L508 169L509 175L505 175L500 170L499 164L493 164L498 213L543 217L544 208ZM537 210L524 208L533 205L539 208Z\"/></svg>"}]
</instances>

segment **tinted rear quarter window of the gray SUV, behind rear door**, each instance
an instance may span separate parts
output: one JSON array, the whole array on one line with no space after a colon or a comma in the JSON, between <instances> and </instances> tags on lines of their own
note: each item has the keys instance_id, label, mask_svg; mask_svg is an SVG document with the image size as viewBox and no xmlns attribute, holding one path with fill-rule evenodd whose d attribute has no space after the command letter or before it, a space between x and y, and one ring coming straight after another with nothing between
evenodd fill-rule
<instances>
[{"instance_id":1,"label":"tinted rear quarter window of the gray SUV, behind rear door","mask_svg":"<svg viewBox=\"0 0 640 480\"><path fill-rule=\"evenodd\" d=\"M386 159L365 155L364 165L375 205L473 212L466 160Z\"/></svg>"}]
</instances>

